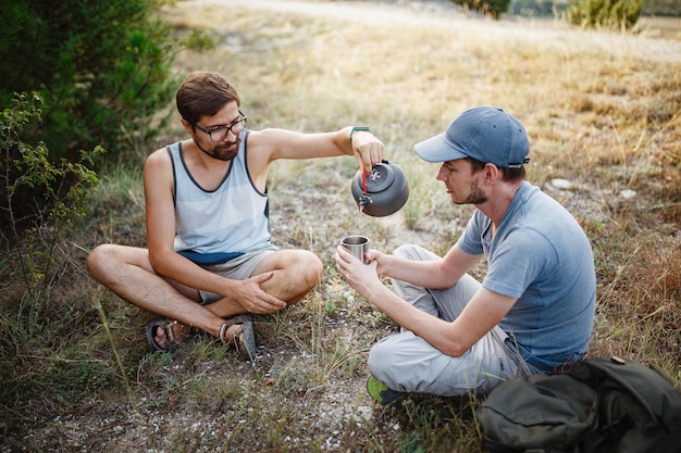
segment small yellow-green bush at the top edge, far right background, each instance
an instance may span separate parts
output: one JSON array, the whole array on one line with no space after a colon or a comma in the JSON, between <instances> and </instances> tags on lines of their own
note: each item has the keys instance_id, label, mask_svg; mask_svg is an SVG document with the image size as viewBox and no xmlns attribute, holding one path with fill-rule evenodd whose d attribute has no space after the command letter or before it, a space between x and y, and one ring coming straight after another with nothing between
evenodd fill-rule
<instances>
[{"instance_id":1,"label":"small yellow-green bush at the top edge, far right background","mask_svg":"<svg viewBox=\"0 0 681 453\"><path fill-rule=\"evenodd\" d=\"M626 30L636 25L642 0L575 0L567 20L582 28Z\"/></svg>"}]
</instances>

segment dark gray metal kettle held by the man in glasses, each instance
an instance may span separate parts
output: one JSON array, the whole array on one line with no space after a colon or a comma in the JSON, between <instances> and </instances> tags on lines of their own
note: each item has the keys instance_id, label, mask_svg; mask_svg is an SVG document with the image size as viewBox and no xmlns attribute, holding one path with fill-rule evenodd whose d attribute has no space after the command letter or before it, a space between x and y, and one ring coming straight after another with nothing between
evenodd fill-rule
<instances>
[{"instance_id":1,"label":"dark gray metal kettle held by the man in glasses","mask_svg":"<svg viewBox=\"0 0 681 453\"><path fill-rule=\"evenodd\" d=\"M395 162L388 161L375 164L371 173L357 172L351 189L359 210L372 217L396 213L409 198L405 173Z\"/></svg>"}]
</instances>

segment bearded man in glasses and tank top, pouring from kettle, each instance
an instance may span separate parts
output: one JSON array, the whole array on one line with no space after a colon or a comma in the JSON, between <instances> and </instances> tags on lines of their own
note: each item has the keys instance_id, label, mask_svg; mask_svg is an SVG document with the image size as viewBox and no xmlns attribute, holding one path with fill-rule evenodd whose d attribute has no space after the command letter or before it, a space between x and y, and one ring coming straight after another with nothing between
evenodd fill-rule
<instances>
[{"instance_id":1,"label":"bearded man in glasses and tank top, pouring from kettle","mask_svg":"<svg viewBox=\"0 0 681 453\"><path fill-rule=\"evenodd\" d=\"M191 74L176 105L189 138L145 163L148 249L101 244L89 254L88 270L122 299L161 316L147 327L153 350L176 348L194 327L252 360L250 314L300 301L323 272L312 252L272 244L270 165L355 155L371 171L383 159L383 143L366 126L323 134L249 130L236 89L214 73Z\"/></svg>"}]
</instances>

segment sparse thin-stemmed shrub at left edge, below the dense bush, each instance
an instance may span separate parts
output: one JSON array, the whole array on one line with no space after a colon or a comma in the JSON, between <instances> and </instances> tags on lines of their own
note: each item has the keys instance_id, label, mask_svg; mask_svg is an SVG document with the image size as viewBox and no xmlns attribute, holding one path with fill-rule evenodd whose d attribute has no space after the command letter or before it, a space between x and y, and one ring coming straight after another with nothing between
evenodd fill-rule
<instances>
[{"instance_id":1,"label":"sparse thin-stemmed shrub at left edge, below the dense bush","mask_svg":"<svg viewBox=\"0 0 681 453\"><path fill-rule=\"evenodd\" d=\"M65 362L34 365L36 357L59 354L52 342L63 341L77 322L67 304L54 303L52 291L67 276L71 256L64 235L85 216L91 187L98 181L90 169L92 158L103 150L82 151L78 162L50 163L44 142L34 147L23 140L40 121L40 104L36 93L17 95L0 115L0 212L7 232L0 236L0 404L9 407L17 399L54 391L62 383L67 388L89 376ZM46 338L46 331L52 336ZM61 379L50 379L52 372Z\"/></svg>"}]
</instances>

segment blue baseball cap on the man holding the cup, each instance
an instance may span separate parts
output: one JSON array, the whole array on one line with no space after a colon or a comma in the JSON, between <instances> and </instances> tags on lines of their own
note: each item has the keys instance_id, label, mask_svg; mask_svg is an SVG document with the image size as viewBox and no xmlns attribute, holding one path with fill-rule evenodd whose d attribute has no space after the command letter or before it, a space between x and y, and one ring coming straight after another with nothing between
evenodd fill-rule
<instances>
[{"instance_id":1,"label":"blue baseball cap on the man holding the cup","mask_svg":"<svg viewBox=\"0 0 681 453\"><path fill-rule=\"evenodd\" d=\"M457 116L444 133L414 146L428 162L473 158L503 168L519 168L529 161L528 133L510 113L497 106L476 106Z\"/></svg>"}]
</instances>

